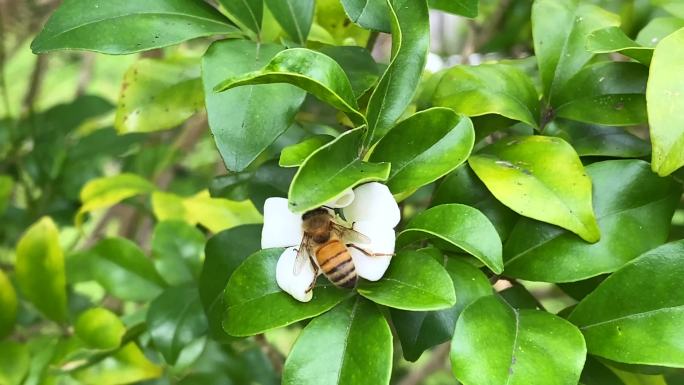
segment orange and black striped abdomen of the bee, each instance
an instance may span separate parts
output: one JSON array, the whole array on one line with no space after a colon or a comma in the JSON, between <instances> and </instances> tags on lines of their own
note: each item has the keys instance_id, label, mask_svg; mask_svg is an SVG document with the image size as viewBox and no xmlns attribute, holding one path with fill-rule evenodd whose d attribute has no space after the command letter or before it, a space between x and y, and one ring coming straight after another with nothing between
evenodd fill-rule
<instances>
[{"instance_id":1,"label":"orange and black striped abdomen of the bee","mask_svg":"<svg viewBox=\"0 0 684 385\"><path fill-rule=\"evenodd\" d=\"M321 271L335 286L351 289L356 286L356 268L347 246L333 239L316 250L316 261Z\"/></svg>"}]
</instances>

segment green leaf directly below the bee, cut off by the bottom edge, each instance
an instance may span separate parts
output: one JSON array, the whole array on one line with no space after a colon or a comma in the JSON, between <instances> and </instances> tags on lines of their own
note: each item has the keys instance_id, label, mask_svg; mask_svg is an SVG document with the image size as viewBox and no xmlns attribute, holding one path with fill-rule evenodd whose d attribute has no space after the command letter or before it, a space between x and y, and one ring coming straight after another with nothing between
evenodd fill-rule
<instances>
[{"instance_id":1,"label":"green leaf directly below the bee, cut off by the bottom edge","mask_svg":"<svg viewBox=\"0 0 684 385\"><path fill-rule=\"evenodd\" d=\"M283 369L283 385L387 385L392 333L377 306L350 299L309 323Z\"/></svg>"}]
</instances>

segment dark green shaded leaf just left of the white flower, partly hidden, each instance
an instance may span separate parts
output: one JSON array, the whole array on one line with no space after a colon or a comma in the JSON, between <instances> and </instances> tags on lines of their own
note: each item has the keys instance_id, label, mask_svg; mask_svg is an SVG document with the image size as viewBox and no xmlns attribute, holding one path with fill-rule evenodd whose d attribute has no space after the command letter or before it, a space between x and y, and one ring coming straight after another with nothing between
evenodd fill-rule
<instances>
[{"instance_id":1,"label":"dark green shaded leaf just left of the white flower, partly hidden","mask_svg":"<svg viewBox=\"0 0 684 385\"><path fill-rule=\"evenodd\" d=\"M249 255L261 249L261 226L245 225L222 231L209 239L199 280L199 294L209 320L209 333L224 339L221 327L224 289L235 269Z\"/></svg>"}]
</instances>

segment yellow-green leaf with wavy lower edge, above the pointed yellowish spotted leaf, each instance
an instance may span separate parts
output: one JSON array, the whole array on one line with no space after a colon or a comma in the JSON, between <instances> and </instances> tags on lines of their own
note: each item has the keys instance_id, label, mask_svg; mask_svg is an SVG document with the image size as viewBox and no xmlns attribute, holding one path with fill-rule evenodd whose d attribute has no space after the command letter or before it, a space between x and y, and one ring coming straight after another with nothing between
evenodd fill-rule
<instances>
[{"instance_id":1,"label":"yellow-green leaf with wavy lower edge, above the pointed yellowish spotted leaf","mask_svg":"<svg viewBox=\"0 0 684 385\"><path fill-rule=\"evenodd\" d=\"M434 89L431 104L467 116L497 114L538 126L539 96L532 80L506 64L448 69Z\"/></svg>"}]
</instances>

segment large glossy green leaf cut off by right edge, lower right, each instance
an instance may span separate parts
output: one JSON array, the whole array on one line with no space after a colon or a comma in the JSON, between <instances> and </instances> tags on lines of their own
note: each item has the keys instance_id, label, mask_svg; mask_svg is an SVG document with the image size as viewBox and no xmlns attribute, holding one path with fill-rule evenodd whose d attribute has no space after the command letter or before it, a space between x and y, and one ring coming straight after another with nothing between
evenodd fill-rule
<instances>
[{"instance_id":1,"label":"large glossy green leaf cut off by right edge, lower right","mask_svg":"<svg viewBox=\"0 0 684 385\"><path fill-rule=\"evenodd\" d=\"M684 367L684 242L646 252L606 278L569 320L590 353L629 364Z\"/></svg>"}]
</instances>

